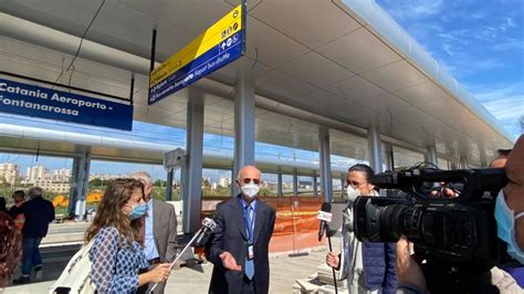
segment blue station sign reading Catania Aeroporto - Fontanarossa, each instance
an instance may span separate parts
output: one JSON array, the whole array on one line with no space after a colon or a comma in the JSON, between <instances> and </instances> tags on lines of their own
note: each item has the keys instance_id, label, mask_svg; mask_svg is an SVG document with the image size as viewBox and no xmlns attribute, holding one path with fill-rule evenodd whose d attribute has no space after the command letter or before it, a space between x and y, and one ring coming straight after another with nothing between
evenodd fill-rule
<instances>
[{"instance_id":1,"label":"blue station sign reading Catania Aeroporto - Fontanarossa","mask_svg":"<svg viewBox=\"0 0 524 294\"><path fill-rule=\"evenodd\" d=\"M133 106L0 78L0 112L132 130Z\"/></svg>"}]
</instances>

